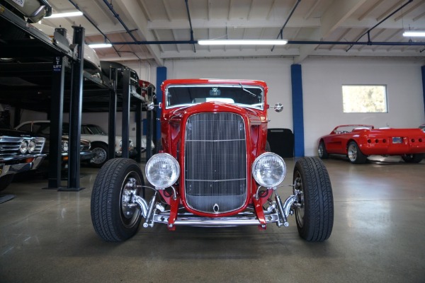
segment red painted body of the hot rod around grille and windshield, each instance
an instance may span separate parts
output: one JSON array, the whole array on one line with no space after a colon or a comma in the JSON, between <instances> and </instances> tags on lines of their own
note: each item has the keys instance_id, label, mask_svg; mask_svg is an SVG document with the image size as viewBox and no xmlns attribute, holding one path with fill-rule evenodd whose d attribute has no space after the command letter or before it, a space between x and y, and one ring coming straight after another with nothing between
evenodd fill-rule
<instances>
[{"instance_id":1,"label":"red painted body of the hot rod around grille and windshield","mask_svg":"<svg viewBox=\"0 0 425 283\"><path fill-rule=\"evenodd\" d=\"M254 108L244 108L242 106L232 105L222 102L205 102L196 105L186 105L181 107L169 108L166 103L162 107L162 116L161 116L161 140L163 152L171 154L171 156L176 157L181 165L185 163L184 155L179 154L179 152L184 152L184 132L186 132L186 125L188 125L188 117L196 115L198 113L219 113L219 112L230 112L243 117L244 124L246 125L246 178L249 180L246 192L246 200L242 207L232 212L227 213L204 213L199 212L196 209L191 209L191 205L188 205L186 202L185 192L183 191L183 186L176 187L180 191L179 195L179 204L183 204L184 207L188 209L189 212L193 214L198 214L200 216L209 216L209 217L222 217L229 216L232 214L237 214L242 212L248 204L254 202L253 195L256 193L256 183L254 178L251 175L251 164L254 162L254 159L263 154L266 149L266 140L267 140L267 112L266 112L266 97L268 87L263 81L249 81L249 80L217 80L217 79L171 79L166 80L162 83L162 93L163 100L166 102L166 88L169 86L180 86L180 85L239 85L243 83L244 86L260 86L264 91L264 100L263 100L263 109L254 109ZM183 134L182 134L183 133ZM186 176L185 171L181 170L180 175L180 184L184 183ZM167 192L162 190L160 191L164 200L170 205L172 204L171 195L167 195ZM271 191L268 192L271 194ZM267 197L260 199L257 205L261 206L266 202ZM174 204L177 206L179 204Z\"/></svg>"}]
</instances>

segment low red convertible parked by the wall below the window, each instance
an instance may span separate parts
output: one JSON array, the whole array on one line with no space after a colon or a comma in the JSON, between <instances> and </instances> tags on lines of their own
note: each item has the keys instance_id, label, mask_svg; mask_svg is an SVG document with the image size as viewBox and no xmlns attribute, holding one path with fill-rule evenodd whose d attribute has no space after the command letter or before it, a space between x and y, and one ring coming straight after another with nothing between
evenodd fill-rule
<instances>
[{"instance_id":1,"label":"low red convertible parked by the wall below the window","mask_svg":"<svg viewBox=\"0 0 425 283\"><path fill-rule=\"evenodd\" d=\"M340 125L319 139L319 157L344 154L351 163L365 163L370 155L401 155L408 163L425 156L425 132L421 129L375 129L371 125Z\"/></svg>"}]
</instances>

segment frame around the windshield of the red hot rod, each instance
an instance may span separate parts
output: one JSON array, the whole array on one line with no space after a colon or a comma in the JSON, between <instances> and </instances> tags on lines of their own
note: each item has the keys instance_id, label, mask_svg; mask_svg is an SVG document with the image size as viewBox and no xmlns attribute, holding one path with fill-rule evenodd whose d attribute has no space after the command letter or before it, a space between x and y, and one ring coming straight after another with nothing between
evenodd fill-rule
<instances>
[{"instance_id":1,"label":"frame around the windshield of the red hot rod","mask_svg":"<svg viewBox=\"0 0 425 283\"><path fill-rule=\"evenodd\" d=\"M263 86L259 86L259 85L252 85L252 84L242 84L242 83L232 83L232 84L225 84L225 83L198 83L198 84L192 84L192 83L175 83L175 84L169 84L168 86L166 86L165 91L164 91L164 104L165 104L165 109L172 109L172 108L181 108L181 107L185 107L185 106L192 106L192 105L198 105L200 103L203 102L199 102L199 103L182 103L182 104L176 104L176 105L169 105L169 88L176 88L176 87L181 87L181 88L188 88L188 87L193 87L193 88L197 88L197 87L203 87L203 88L239 88L242 91L246 92L246 96L251 96L252 93L250 94L249 89L252 88L258 88L261 91L261 103L256 103L256 105L261 104L261 106L254 106L254 105L250 105L250 104L244 104L244 103L229 103L232 105L238 105L241 107L246 107L246 108L253 108L256 110L264 110L264 105L265 105L265 91Z\"/></svg>"}]
</instances>

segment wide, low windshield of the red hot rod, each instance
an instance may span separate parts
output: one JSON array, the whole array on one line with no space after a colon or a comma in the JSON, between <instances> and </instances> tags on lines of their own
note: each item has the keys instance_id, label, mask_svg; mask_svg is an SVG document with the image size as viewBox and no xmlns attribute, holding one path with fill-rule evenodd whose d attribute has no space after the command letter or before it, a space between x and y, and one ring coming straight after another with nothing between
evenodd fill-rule
<instances>
[{"instance_id":1,"label":"wide, low windshield of the red hot rod","mask_svg":"<svg viewBox=\"0 0 425 283\"><path fill-rule=\"evenodd\" d=\"M239 85L175 85L166 88L166 108L209 101L263 110L263 88Z\"/></svg>"}]
</instances>

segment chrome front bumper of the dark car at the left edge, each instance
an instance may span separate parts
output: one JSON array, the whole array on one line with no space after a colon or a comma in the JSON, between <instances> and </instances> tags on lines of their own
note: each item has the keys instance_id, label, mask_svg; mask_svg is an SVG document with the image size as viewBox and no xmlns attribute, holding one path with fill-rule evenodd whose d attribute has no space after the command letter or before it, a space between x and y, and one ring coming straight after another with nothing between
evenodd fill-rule
<instances>
[{"instance_id":1,"label":"chrome front bumper of the dark car at the left edge","mask_svg":"<svg viewBox=\"0 0 425 283\"><path fill-rule=\"evenodd\" d=\"M40 167L40 164L44 160L44 158L45 154L33 154L2 158L0 160L0 177L3 177L4 175L35 170Z\"/></svg>"}]
</instances>

